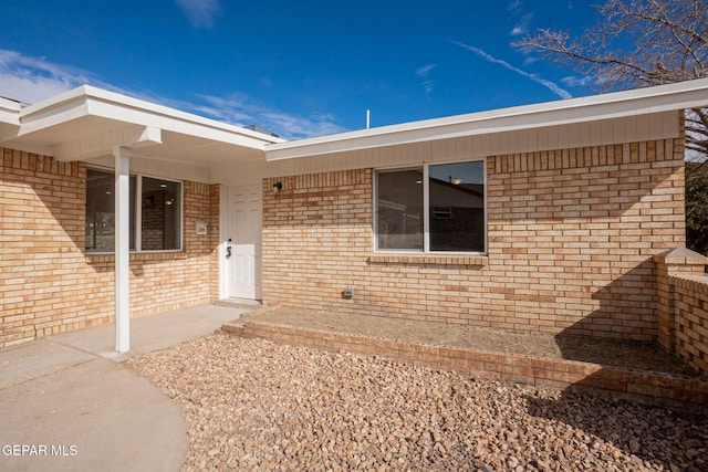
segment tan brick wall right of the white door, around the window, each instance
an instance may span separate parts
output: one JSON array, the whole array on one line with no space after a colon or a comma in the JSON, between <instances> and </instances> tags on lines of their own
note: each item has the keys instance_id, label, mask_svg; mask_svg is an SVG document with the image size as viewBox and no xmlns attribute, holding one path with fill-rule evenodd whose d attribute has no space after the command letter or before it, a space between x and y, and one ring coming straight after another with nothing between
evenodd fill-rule
<instances>
[{"instance_id":1,"label":"tan brick wall right of the white door, around the window","mask_svg":"<svg viewBox=\"0 0 708 472\"><path fill-rule=\"evenodd\" d=\"M487 256L375 254L372 169L264 179L264 302L655 340L683 158L683 139L488 157Z\"/></svg>"}]
</instances>

